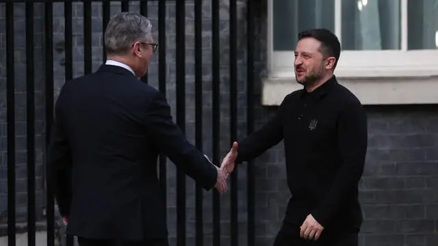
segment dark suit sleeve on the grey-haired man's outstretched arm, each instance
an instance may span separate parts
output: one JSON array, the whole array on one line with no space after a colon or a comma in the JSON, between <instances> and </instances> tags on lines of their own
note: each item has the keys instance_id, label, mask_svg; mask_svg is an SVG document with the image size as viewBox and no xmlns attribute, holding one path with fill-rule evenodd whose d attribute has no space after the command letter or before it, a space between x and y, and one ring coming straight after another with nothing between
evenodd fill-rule
<instances>
[{"instance_id":1,"label":"dark suit sleeve on the grey-haired man's outstretched arm","mask_svg":"<svg viewBox=\"0 0 438 246\"><path fill-rule=\"evenodd\" d=\"M217 180L216 166L185 139L181 129L172 121L166 98L157 92L149 102L146 128L160 152L201 186L209 190Z\"/></svg>"}]
</instances>

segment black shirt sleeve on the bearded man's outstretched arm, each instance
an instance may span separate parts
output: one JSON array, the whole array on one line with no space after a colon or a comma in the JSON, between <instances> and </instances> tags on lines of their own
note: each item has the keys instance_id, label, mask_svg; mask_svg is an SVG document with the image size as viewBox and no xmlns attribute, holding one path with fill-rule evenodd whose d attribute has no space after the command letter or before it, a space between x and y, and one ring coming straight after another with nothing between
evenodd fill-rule
<instances>
[{"instance_id":1,"label":"black shirt sleeve on the bearded man's outstretched arm","mask_svg":"<svg viewBox=\"0 0 438 246\"><path fill-rule=\"evenodd\" d=\"M239 141L235 163L255 159L283 139L283 111L285 110L287 101L289 101L288 98L289 96L281 102L279 109L277 109L274 117L272 117L268 123L262 126L258 131L248 135L248 137L242 141Z\"/></svg>"}]
</instances>

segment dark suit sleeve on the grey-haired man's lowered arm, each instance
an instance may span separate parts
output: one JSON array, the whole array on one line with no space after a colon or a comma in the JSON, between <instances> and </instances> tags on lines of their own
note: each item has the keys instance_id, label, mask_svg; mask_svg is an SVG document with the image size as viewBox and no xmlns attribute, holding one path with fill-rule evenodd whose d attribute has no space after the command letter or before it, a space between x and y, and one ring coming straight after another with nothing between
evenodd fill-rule
<instances>
[{"instance_id":1,"label":"dark suit sleeve on the grey-haired man's lowered arm","mask_svg":"<svg viewBox=\"0 0 438 246\"><path fill-rule=\"evenodd\" d=\"M53 120L51 143L49 144L48 167L50 171L55 200L62 216L70 213L70 202L72 196L71 172L72 158L70 146L62 125L60 110L60 97L55 105L55 119Z\"/></svg>"}]
</instances>

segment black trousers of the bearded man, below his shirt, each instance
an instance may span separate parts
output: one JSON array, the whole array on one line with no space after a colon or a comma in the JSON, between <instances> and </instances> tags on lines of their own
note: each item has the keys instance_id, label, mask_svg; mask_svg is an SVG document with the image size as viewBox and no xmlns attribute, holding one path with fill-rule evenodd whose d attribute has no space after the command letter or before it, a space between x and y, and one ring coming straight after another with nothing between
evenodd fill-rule
<instances>
[{"instance_id":1,"label":"black trousers of the bearded man, below his shirt","mask_svg":"<svg viewBox=\"0 0 438 246\"><path fill-rule=\"evenodd\" d=\"M318 241L300 237L300 226L283 222L273 246L358 246L358 232L330 232L323 230Z\"/></svg>"}]
</instances>

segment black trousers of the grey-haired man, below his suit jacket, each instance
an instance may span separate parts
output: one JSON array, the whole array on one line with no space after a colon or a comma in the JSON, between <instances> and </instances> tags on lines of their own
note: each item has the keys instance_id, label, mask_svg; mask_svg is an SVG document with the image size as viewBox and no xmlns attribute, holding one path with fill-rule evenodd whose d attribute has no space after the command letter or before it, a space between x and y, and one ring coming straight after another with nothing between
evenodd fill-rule
<instances>
[{"instance_id":1,"label":"black trousers of the grey-haired man, below his suit jacket","mask_svg":"<svg viewBox=\"0 0 438 246\"><path fill-rule=\"evenodd\" d=\"M132 242L78 237L77 241L80 246L169 246L167 238L154 238L142 242Z\"/></svg>"}]
</instances>

